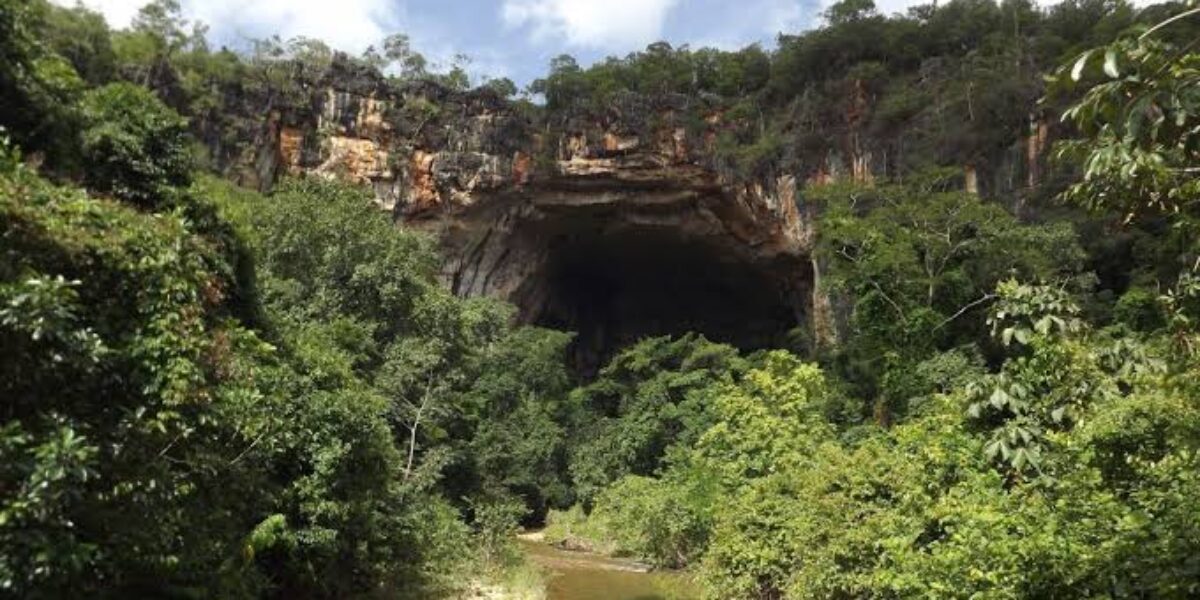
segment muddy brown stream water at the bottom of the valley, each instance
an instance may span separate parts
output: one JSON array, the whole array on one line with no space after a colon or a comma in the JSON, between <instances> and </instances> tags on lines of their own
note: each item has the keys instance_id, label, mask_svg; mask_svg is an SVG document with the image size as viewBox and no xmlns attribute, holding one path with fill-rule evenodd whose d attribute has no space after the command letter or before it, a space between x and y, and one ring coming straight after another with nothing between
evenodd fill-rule
<instances>
[{"instance_id":1,"label":"muddy brown stream water at the bottom of the valley","mask_svg":"<svg viewBox=\"0 0 1200 600\"><path fill-rule=\"evenodd\" d=\"M684 574L646 572L628 560L521 541L526 556L547 574L546 600L695 600Z\"/></svg>"}]
</instances>

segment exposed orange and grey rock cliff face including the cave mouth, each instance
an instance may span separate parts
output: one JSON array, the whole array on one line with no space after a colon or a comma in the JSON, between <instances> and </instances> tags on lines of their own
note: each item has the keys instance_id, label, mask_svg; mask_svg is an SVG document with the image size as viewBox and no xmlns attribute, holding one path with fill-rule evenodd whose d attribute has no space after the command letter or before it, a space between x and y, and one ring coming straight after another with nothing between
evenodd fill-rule
<instances>
[{"instance_id":1,"label":"exposed orange and grey rock cliff face including the cave mouth","mask_svg":"<svg viewBox=\"0 0 1200 600\"><path fill-rule=\"evenodd\" d=\"M352 74L281 118L274 169L370 185L438 235L455 293L578 331L581 368L650 335L761 348L808 326L812 215L794 176L719 173L719 114L689 128L679 98L631 98L546 124L486 91Z\"/></svg>"}]
</instances>

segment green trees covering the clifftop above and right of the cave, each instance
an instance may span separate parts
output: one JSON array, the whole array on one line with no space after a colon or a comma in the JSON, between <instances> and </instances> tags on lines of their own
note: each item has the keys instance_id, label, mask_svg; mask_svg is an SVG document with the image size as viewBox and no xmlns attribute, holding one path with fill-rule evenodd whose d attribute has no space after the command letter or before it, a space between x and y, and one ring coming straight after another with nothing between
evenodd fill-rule
<instances>
[{"instance_id":1,"label":"green trees covering the clifftop above and right of the cave","mask_svg":"<svg viewBox=\"0 0 1200 600\"><path fill-rule=\"evenodd\" d=\"M1123 1L1075 0L1042 10L1025 0L958 0L886 16L871 1L846 0L827 25L781 35L779 47L739 52L666 43L588 68L569 55L534 82L552 112L623 116L649 97L688 113L685 125L720 114L720 166L731 176L808 174L827 152L850 154L847 133L876 142L874 160L901 179L930 164L977 166L986 188L1012 187L1002 166L1010 144L1043 108L1043 74L1138 23L1171 14ZM1194 28L1194 25L1193 25ZM1163 35L1187 43L1187 25ZM685 98L685 100L680 100ZM1051 116L1051 120L1054 118Z\"/></svg>"}]
</instances>

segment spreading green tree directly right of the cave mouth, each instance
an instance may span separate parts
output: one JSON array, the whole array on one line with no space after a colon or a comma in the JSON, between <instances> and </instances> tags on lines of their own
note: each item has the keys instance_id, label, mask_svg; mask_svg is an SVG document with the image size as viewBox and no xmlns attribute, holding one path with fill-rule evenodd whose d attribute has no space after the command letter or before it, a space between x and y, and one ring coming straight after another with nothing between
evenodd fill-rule
<instances>
[{"instance_id":1,"label":"spreading green tree directly right of the cave mouth","mask_svg":"<svg viewBox=\"0 0 1200 600\"><path fill-rule=\"evenodd\" d=\"M880 394L877 382L905 377L937 350L988 343L985 308L1000 281L1070 277L1084 259L1069 227L1021 224L973 194L940 191L938 181L810 191L829 203L822 278L852 302L853 341L835 360L875 400L881 424L904 412L904 398Z\"/></svg>"}]
</instances>

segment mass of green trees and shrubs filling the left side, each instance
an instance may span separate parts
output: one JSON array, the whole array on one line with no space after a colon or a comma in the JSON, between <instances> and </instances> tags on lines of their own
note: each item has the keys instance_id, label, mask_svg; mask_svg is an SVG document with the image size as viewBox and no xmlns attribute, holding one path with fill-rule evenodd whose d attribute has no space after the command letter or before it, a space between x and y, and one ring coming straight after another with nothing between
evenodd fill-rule
<instances>
[{"instance_id":1,"label":"mass of green trees and shrubs filling the left side","mask_svg":"<svg viewBox=\"0 0 1200 600\"><path fill-rule=\"evenodd\" d=\"M122 36L169 26L152 8ZM46 94L44 65L73 72L35 25L107 29L2 14L5 136L46 174L5 139L0 595L428 598L509 564L526 502L568 493L539 401L566 336L452 298L359 190L193 178L145 82ZM78 137L30 125L58 119Z\"/></svg>"}]
</instances>

